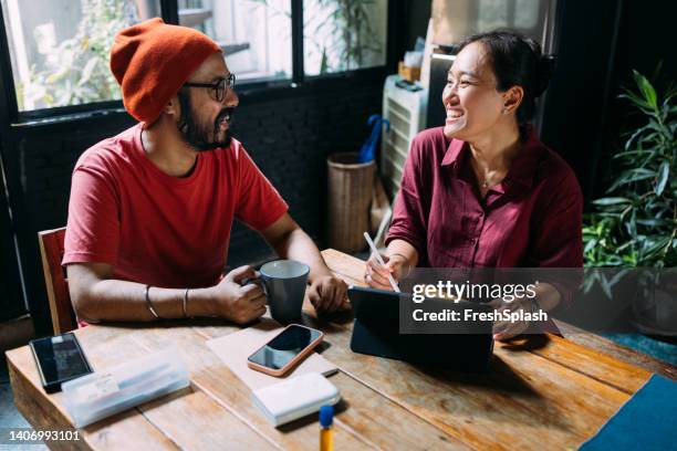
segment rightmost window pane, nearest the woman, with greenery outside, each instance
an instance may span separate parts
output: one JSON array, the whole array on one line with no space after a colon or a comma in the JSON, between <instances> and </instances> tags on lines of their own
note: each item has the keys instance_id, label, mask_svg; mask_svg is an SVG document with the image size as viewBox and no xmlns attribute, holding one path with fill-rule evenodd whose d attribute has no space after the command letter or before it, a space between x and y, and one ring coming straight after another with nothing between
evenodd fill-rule
<instances>
[{"instance_id":1,"label":"rightmost window pane, nearest the woman, with greenery outside","mask_svg":"<svg viewBox=\"0 0 677 451\"><path fill-rule=\"evenodd\" d=\"M303 0L308 75L386 63L387 0Z\"/></svg>"}]
</instances>

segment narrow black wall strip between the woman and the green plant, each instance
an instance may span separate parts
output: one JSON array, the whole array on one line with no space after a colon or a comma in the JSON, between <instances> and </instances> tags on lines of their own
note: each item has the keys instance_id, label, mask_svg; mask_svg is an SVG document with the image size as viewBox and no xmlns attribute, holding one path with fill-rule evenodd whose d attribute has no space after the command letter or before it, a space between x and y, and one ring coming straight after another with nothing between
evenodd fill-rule
<instances>
[{"instance_id":1,"label":"narrow black wall strip between the woman and the green plant","mask_svg":"<svg viewBox=\"0 0 677 451\"><path fill-rule=\"evenodd\" d=\"M563 1L558 11L558 65L548 87L541 139L559 151L579 177L590 200L596 156L606 140L621 2Z\"/></svg>"}]
</instances>

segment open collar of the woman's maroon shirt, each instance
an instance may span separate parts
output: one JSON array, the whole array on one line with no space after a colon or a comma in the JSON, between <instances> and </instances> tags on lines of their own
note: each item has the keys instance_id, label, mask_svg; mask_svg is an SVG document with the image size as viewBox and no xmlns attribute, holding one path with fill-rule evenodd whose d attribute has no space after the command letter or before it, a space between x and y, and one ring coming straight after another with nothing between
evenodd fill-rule
<instances>
[{"instance_id":1,"label":"open collar of the woman's maroon shirt","mask_svg":"<svg viewBox=\"0 0 677 451\"><path fill-rule=\"evenodd\" d=\"M544 146L535 135L533 127L530 125L525 127L523 134L524 139L522 141L522 148L512 161L512 166L510 167L510 171L508 172L503 183L517 181L527 186L528 188L531 188L533 185L535 169L539 165L540 156L542 155ZM451 139L451 143L449 143L449 146L447 147L445 157L442 158L441 166L451 166L456 176L458 176L459 166L462 161L465 153L468 151L467 144L468 143L460 139Z\"/></svg>"}]
</instances>

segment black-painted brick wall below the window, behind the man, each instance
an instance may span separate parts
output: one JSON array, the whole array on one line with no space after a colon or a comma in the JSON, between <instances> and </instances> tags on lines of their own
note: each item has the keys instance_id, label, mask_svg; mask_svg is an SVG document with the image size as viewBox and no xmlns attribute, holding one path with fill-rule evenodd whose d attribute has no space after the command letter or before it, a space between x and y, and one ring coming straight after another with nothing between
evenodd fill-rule
<instances>
[{"instance_id":1,"label":"black-painted brick wall below the window, behind the man","mask_svg":"<svg viewBox=\"0 0 677 451\"><path fill-rule=\"evenodd\" d=\"M240 98L233 134L288 201L294 219L320 245L326 216L325 158L333 151L358 149L369 132L367 117L381 112L382 91L379 81L362 85L345 82L331 88ZM71 172L80 154L133 123L126 114L111 114L23 127L3 139L2 158L15 211L27 295L40 331L50 329L50 318L37 233L66 223ZM271 255L257 233L243 226L235 228L229 266Z\"/></svg>"}]
</instances>

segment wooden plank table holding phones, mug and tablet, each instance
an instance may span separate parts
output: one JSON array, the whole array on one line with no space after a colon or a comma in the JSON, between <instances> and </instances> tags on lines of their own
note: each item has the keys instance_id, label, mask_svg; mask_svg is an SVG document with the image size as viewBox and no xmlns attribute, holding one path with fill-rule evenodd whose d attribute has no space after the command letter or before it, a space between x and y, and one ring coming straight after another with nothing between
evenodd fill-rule
<instances>
[{"instance_id":1,"label":"wooden plank table holding phones, mug and tablet","mask_svg":"<svg viewBox=\"0 0 677 451\"><path fill-rule=\"evenodd\" d=\"M362 284L364 262L323 252L350 284ZM306 306L308 307L308 306ZM348 315L306 324L324 331L323 355L343 397L337 450L576 448L648 379L650 373L565 338L548 335L498 344L487 375L429 370L350 350ZM223 322L88 326L76 332L95 369L176 346L191 386L82 430L63 449L317 449L309 417L275 429L257 411L250 390L206 345L238 327ZM14 401L37 429L71 427L61 394L45 395L28 348L8 353Z\"/></svg>"}]
</instances>

